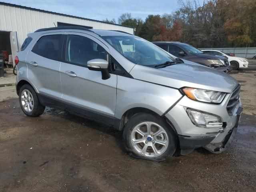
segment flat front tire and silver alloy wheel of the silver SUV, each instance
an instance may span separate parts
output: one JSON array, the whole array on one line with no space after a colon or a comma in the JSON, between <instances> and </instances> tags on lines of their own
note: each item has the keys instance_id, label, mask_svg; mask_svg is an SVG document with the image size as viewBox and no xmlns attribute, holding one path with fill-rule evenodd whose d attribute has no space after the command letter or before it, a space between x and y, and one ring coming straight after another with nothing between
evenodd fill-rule
<instances>
[{"instance_id":1,"label":"flat front tire and silver alloy wheel of the silver SUV","mask_svg":"<svg viewBox=\"0 0 256 192\"><path fill-rule=\"evenodd\" d=\"M159 116L138 113L126 123L124 145L135 158L162 161L176 150L177 138L170 125Z\"/></svg>"}]
</instances>

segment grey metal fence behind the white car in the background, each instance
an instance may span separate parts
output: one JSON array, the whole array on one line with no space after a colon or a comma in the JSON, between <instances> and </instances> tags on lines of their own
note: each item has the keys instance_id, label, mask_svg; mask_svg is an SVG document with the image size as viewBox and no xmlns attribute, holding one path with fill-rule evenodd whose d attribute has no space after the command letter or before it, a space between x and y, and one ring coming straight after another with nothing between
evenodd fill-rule
<instances>
[{"instance_id":1,"label":"grey metal fence behind the white car in the background","mask_svg":"<svg viewBox=\"0 0 256 192\"><path fill-rule=\"evenodd\" d=\"M252 58L256 54L256 47L249 48L200 48L200 50L219 50L224 53L234 53L236 57Z\"/></svg>"}]
</instances>

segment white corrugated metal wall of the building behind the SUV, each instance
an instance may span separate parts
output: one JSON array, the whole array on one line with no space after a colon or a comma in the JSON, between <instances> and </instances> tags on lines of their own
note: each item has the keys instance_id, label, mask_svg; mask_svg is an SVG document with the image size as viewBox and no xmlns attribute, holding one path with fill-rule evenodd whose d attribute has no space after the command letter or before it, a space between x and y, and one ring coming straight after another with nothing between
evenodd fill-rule
<instances>
[{"instance_id":1,"label":"white corrugated metal wall of the building behind the SUV","mask_svg":"<svg viewBox=\"0 0 256 192\"><path fill-rule=\"evenodd\" d=\"M21 44L28 33L34 32L40 28L54 27L54 23L57 25L57 22L91 26L93 29L120 30L130 34L133 34L134 30L133 28L126 26L72 18L58 14L0 4L0 31L16 31L19 47L21 47Z\"/></svg>"}]
</instances>

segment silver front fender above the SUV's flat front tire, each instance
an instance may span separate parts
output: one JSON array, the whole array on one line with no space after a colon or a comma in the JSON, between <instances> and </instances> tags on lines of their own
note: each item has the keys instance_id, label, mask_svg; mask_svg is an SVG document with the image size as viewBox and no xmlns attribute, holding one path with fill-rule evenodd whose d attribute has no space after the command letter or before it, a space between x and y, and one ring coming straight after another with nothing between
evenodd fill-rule
<instances>
[{"instance_id":1,"label":"silver front fender above the SUV's flat front tire","mask_svg":"<svg viewBox=\"0 0 256 192\"><path fill-rule=\"evenodd\" d=\"M178 89L118 76L115 118L131 108L146 108L162 116L182 97Z\"/></svg>"}]
</instances>

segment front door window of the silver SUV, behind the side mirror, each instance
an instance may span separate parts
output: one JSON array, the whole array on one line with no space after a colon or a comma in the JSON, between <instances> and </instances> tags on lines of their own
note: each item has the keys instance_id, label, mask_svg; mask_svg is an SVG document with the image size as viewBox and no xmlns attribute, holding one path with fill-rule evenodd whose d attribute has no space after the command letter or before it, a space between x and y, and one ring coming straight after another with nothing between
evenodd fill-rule
<instances>
[{"instance_id":1,"label":"front door window of the silver SUV, behind the side mirror","mask_svg":"<svg viewBox=\"0 0 256 192\"><path fill-rule=\"evenodd\" d=\"M66 62L87 67L87 62L92 59L107 59L108 52L93 40L78 36L68 35L66 44Z\"/></svg>"}]
</instances>

